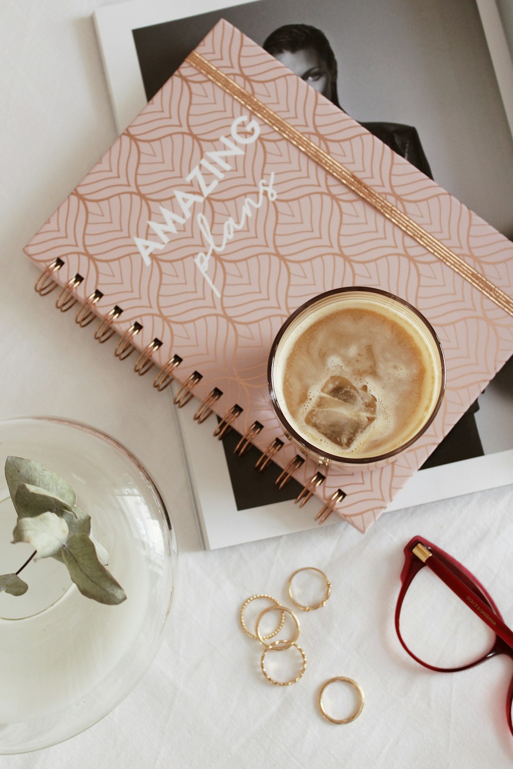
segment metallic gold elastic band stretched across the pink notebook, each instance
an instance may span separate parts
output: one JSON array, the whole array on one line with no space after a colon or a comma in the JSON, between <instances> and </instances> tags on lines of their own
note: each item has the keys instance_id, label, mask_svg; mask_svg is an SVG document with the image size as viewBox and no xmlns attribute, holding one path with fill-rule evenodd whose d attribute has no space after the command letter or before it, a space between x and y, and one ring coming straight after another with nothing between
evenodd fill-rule
<instances>
[{"instance_id":1,"label":"metallic gold elastic band stretched across the pink notebook","mask_svg":"<svg viewBox=\"0 0 513 769\"><path fill-rule=\"evenodd\" d=\"M265 123L278 131L284 138L288 139L291 144L295 145L301 152L305 152L308 158L316 161L318 165L321 165L325 171L334 176L350 188L353 192L363 198L367 203L370 203L382 215L393 221L395 225L401 228L407 235L414 238L424 248L435 255L438 259L444 262L445 265L458 273L461 278L468 281L474 288L481 291L488 299L495 302L501 309L513 315L513 299L508 297L504 291L493 285L488 278L481 275L477 270L468 265L463 259L455 255L446 245L438 241L434 235L431 235L428 231L421 228L415 221L409 218L403 211L400 211L386 198L379 195L378 192L373 190L365 181L361 181L357 176L348 171L345 166L341 165L338 161L328 155L328 152L321 149L313 141L306 138L298 131L288 124L286 120L277 115L273 110L263 104L258 98L248 93L242 85L234 82L228 75L225 75L218 67L208 62L201 54L196 51L192 51L185 59L188 64L192 65L198 72L205 75L209 80L222 88L226 93L235 98L237 102L245 106L258 118L261 118Z\"/></svg>"}]
</instances>

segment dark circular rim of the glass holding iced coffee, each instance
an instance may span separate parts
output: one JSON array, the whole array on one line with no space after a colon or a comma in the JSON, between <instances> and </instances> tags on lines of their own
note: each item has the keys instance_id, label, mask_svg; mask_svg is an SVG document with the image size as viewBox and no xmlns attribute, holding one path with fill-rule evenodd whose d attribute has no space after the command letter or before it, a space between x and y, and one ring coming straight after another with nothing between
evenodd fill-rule
<instances>
[{"instance_id":1,"label":"dark circular rim of the glass holding iced coffee","mask_svg":"<svg viewBox=\"0 0 513 769\"><path fill-rule=\"evenodd\" d=\"M403 305L406 308L408 308L409 311L413 312L414 315L417 315L417 317L420 318L422 323L428 329L431 337L435 341L435 346L438 352L438 356L440 358L440 366L441 366L440 391L438 393L438 398L435 402L435 405L431 410L431 414L429 415L428 419L425 421L425 424L423 424L421 428L418 429L415 435L413 435L411 438L408 438L408 441L405 441L405 443L402 443L397 448L392 449L391 451L386 451L385 454L375 454L371 457L344 457L344 456L341 456L340 454L331 454L328 451L321 451L320 448L310 443L310 441L307 441L306 438L303 438L303 436L300 435L298 431L296 431L295 428L292 427L288 419L285 417L285 414L281 410L281 406L278 403L278 398L276 397L275 385L273 382L276 351L278 349L278 345L281 339L283 338L283 335L285 335L285 332L288 330L288 328L290 328L291 323L293 323L296 320L296 318L299 317L299 315L305 312L305 310L308 310L308 308L310 308L311 305L316 304L318 301L321 301L331 296L335 296L337 294L345 294L350 291L357 291L357 292L362 291L369 294L378 294L380 296L384 296L388 299L391 299L392 301L397 302L399 305ZM269 395L271 397L271 404L272 404L272 407L275 409L278 419L281 421L281 424L285 427L286 431L291 435L291 438L293 438L297 444L299 444L302 448L304 448L305 451L310 451L311 453L316 454L318 457L322 459L326 459L326 460L329 460L330 462L332 461L335 463L354 464L357 467L361 465L374 464L375 462L381 462L387 459L391 459L397 456L397 454L400 454L402 451L405 451L407 448L411 446L411 444L414 444L415 441L418 441L418 438L420 438L421 435L425 433L428 427L430 427L432 421L435 419L436 414L438 414L438 410L441 406L441 401L444 398L445 379L446 379L446 367L445 367L444 351L441 347L441 342L438 339L438 335L435 329L432 327L431 323L428 321L428 318L426 318L425 315L423 315L420 310L418 310L416 307L411 305L409 301L406 301L406 299L398 297L395 294L391 294L390 291L384 291L381 288L371 288L370 286L345 286L343 288L331 288L330 291L324 291L324 293L315 295L314 297L311 297L310 299L308 299L308 301L305 301L305 303L301 305L301 307L298 307L298 309L295 310L291 315L289 315L288 318L285 320L285 322L281 325L281 328L279 329L278 334L275 336L275 339L272 342L271 350L269 351L268 365L267 365L267 384L268 384Z\"/></svg>"}]
</instances>

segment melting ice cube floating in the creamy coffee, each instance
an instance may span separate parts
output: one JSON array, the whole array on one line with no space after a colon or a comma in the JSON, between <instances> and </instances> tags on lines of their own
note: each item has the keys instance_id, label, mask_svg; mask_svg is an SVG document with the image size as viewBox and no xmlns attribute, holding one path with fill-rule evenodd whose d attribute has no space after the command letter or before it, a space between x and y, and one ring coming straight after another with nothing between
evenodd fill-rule
<instances>
[{"instance_id":1,"label":"melting ice cube floating in the creamy coffee","mask_svg":"<svg viewBox=\"0 0 513 769\"><path fill-rule=\"evenodd\" d=\"M325 438L350 448L375 419L376 399L367 385L353 384L345 377L330 377L306 414L305 421Z\"/></svg>"}]
</instances>

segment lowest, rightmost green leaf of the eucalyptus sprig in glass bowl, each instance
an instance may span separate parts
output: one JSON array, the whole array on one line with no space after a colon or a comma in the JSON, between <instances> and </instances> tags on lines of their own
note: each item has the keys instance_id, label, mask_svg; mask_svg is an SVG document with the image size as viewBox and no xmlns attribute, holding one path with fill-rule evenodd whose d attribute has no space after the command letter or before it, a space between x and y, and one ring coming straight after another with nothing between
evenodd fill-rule
<instances>
[{"instance_id":1,"label":"lowest, rightmost green leaf of the eucalyptus sprig in glass bowl","mask_svg":"<svg viewBox=\"0 0 513 769\"><path fill-rule=\"evenodd\" d=\"M95 545L86 534L72 534L61 553L70 577L82 595L101 604L125 601L125 591L98 561Z\"/></svg>"}]
</instances>

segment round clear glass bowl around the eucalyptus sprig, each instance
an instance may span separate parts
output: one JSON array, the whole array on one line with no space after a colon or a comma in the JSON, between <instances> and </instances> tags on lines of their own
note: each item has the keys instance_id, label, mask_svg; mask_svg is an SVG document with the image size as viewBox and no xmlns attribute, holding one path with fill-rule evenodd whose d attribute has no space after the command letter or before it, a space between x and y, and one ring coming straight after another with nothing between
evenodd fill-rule
<instances>
[{"instance_id":1,"label":"round clear glass bowl around the eucalyptus sprig","mask_svg":"<svg viewBox=\"0 0 513 769\"><path fill-rule=\"evenodd\" d=\"M28 591L0 593L0 754L61 742L95 724L132 691L164 634L175 586L175 532L145 468L107 435L70 421L0 422L0 572L32 554L12 544L16 513L4 465L33 459L62 475L108 551L126 601L85 598L55 558L31 561Z\"/></svg>"}]
</instances>

